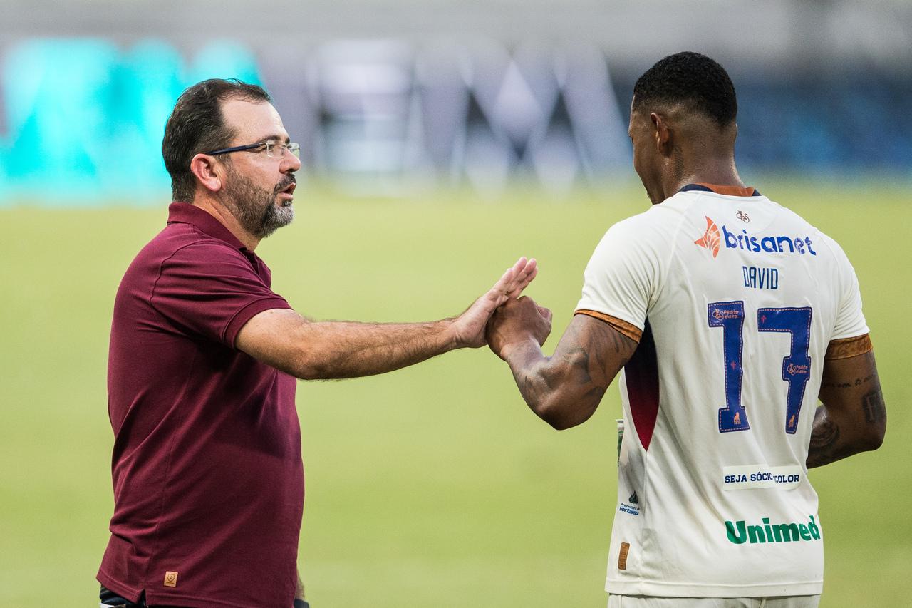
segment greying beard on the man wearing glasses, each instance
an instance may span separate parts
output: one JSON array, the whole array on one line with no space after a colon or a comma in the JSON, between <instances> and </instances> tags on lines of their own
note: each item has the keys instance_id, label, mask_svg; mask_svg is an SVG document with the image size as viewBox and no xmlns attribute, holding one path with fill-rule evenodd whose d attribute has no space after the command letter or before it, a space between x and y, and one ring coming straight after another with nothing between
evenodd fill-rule
<instances>
[{"instance_id":1,"label":"greying beard on the man wearing glasses","mask_svg":"<svg viewBox=\"0 0 912 608\"><path fill-rule=\"evenodd\" d=\"M257 239L264 239L295 219L295 208L291 204L275 204L276 196L289 183L283 180L275 185L273 192L269 192L243 175L232 172L225 183L222 202L244 230Z\"/></svg>"}]
</instances>

